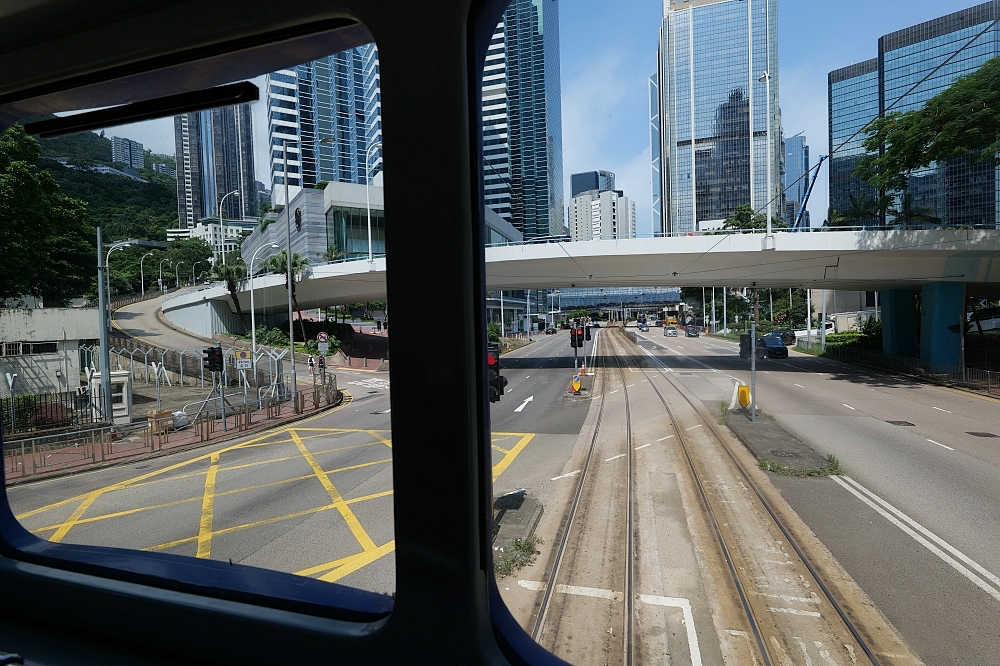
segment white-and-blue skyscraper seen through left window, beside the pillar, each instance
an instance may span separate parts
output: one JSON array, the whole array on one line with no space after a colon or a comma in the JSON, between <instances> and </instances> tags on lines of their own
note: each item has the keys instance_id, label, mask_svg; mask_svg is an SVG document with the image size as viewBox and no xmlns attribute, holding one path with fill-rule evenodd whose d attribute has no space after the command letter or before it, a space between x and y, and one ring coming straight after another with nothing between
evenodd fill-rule
<instances>
[{"instance_id":1,"label":"white-and-blue skyscraper seen through left window, beside the pillar","mask_svg":"<svg viewBox=\"0 0 1000 666\"><path fill-rule=\"evenodd\" d=\"M321 181L376 182L382 170L378 49L365 44L267 77L271 200L284 205L283 139L288 195ZM326 142L321 140L327 139ZM366 170L367 162L367 170Z\"/></svg>"}]
</instances>

